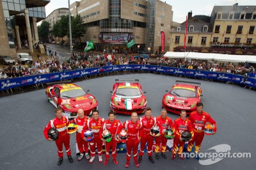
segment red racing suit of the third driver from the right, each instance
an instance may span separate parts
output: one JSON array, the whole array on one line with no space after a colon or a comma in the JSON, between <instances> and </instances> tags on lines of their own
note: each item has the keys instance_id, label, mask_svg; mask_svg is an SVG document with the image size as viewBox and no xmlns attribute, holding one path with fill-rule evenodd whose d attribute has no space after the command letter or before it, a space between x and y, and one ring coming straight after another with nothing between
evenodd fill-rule
<instances>
[{"instance_id":1,"label":"red racing suit of the third driver from the right","mask_svg":"<svg viewBox=\"0 0 256 170\"><path fill-rule=\"evenodd\" d=\"M172 125L172 118L166 117L166 118L162 118L161 116L156 117L156 120L158 122L158 124L161 125L163 132L166 131L168 129L168 126L170 126L171 129L173 129ZM155 138L156 140L156 148L155 148L155 152L158 153L160 148L160 144L161 144L161 152L165 152L166 150L166 143L167 143L167 139L164 137L164 134L162 133L161 136L158 136Z\"/></svg>"}]
</instances>

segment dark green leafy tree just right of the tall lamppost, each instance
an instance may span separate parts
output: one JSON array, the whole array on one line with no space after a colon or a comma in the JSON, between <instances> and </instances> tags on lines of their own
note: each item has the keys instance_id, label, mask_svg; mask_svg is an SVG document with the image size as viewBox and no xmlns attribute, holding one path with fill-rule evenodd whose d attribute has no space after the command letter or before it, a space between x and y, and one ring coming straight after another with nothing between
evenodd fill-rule
<instances>
[{"instance_id":1,"label":"dark green leafy tree just right of the tall lamppost","mask_svg":"<svg viewBox=\"0 0 256 170\"><path fill-rule=\"evenodd\" d=\"M84 24L83 19L80 17L80 15L76 15L76 17L71 18L71 30L72 30L72 40L76 41L77 38L79 38L79 43L81 44L81 37L86 34L86 26ZM69 37L69 27L67 36Z\"/></svg>"}]
</instances>

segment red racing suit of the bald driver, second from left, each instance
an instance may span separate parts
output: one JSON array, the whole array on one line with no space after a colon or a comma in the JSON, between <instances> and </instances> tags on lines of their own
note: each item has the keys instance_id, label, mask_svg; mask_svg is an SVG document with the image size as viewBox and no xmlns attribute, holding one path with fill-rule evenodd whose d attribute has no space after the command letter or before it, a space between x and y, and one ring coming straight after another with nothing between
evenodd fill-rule
<instances>
[{"instance_id":1,"label":"red racing suit of the bald driver, second from left","mask_svg":"<svg viewBox=\"0 0 256 170\"><path fill-rule=\"evenodd\" d=\"M87 123L88 117L84 116L84 118L73 118L71 120L70 124L77 124L77 132L76 132L76 142L77 142L77 148L80 153L88 153L89 148L88 148L88 141L84 141L82 138L82 131L84 125Z\"/></svg>"}]
</instances>

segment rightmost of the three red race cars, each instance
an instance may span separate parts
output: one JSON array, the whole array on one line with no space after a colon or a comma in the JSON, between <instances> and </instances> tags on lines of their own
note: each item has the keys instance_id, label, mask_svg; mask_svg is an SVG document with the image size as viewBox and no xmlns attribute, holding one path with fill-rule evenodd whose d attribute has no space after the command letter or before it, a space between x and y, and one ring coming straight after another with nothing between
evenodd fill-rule
<instances>
[{"instance_id":1,"label":"rightmost of the three red race cars","mask_svg":"<svg viewBox=\"0 0 256 170\"><path fill-rule=\"evenodd\" d=\"M202 89L201 83L177 80L168 94L164 94L163 108L175 114L180 114L180 110L186 110L189 115L196 110L196 104L200 103Z\"/></svg>"}]
</instances>

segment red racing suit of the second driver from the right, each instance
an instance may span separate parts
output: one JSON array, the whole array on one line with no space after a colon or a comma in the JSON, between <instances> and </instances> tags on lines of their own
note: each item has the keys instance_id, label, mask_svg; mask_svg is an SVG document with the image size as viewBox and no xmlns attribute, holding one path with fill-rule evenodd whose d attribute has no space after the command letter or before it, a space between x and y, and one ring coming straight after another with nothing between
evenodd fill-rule
<instances>
[{"instance_id":1,"label":"red racing suit of the second driver from the right","mask_svg":"<svg viewBox=\"0 0 256 170\"><path fill-rule=\"evenodd\" d=\"M182 118L177 118L174 120L173 128L175 129L175 136L173 138L173 148L172 148L172 155L175 155L178 150L179 146L179 152L178 154L181 154L183 152L184 148L184 141L180 141L180 137L182 132L189 131L192 134L192 140L194 138L194 132L191 125L191 121L186 118L185 120L182 120Z\"/></svg>"}]
</instances>

